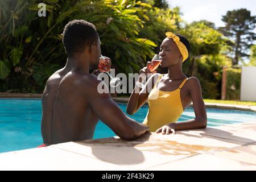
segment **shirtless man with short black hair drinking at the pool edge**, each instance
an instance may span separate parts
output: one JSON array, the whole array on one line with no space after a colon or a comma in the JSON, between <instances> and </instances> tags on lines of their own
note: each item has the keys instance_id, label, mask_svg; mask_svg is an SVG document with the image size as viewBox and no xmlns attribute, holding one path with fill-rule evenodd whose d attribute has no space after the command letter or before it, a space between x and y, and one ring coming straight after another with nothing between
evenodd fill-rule
<instances>
[{"instance_id":1,"label":"shirtless man with short black hair drinking at the pool edge","mask_svg":"<svg viewBox=\"0 0 256 182\"><path fill-rule=\"evenodd\" d=\"M67 64L49 77L42 96L44 144L92 139L99 119L122 139L146 133L148 127L127 117L109 93L98 93L101 81L89 73L97 68L101 55L94 25L84 20L69 22L63 44Z\"/></svg>"}]
</instances>

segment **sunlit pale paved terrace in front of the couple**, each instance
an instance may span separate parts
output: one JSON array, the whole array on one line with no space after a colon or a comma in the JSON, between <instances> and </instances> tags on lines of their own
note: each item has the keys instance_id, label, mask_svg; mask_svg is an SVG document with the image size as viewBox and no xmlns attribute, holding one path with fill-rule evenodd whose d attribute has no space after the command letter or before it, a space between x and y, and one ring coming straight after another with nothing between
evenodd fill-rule
<instances>
[{"instance_id":1,"label":"sunlit pale paved terrace in front of the couple","mask_svg":"<svg viewBox=\"0 0 256 182\"><path fill-rule=\"evenodd\" d=\"M0 170L256 170L256 122L0 154Z\"/></svg>"}]
</instances>

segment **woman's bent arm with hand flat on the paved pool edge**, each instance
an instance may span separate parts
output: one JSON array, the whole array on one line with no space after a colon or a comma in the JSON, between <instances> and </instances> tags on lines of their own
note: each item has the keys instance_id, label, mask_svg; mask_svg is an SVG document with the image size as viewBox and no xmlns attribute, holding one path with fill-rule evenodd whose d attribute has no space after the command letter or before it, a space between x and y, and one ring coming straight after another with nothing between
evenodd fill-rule
<instances>
[{"instance_id":1,"label":"woman's bent arm with hand flat on the paved pool edge","mask_svg":"<svg viewBox=\"0 0 256 182\"><path fill-rule=\"evenodd\" d=\"M207 127L207 113L202 97L201 85L196 77L189 78L189 92L191 94L195 118L184 122L170 123L156 130L156 133L170 134L175 130L204 129Z\"/></svg>"}]
</instances>

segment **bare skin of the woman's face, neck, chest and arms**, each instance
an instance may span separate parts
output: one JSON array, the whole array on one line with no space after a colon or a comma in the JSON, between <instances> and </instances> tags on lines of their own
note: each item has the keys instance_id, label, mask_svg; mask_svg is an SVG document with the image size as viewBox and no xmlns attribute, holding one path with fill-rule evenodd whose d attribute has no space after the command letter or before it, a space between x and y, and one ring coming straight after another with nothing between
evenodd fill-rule
<instances>
[{"instance_id":1,"label":"bare skin of the woman's face, neck, chest and arms","mask_svg":"<svg viewBox=\"0 0 256 182\"><path fill-rule=\"evenodd\" d=\"M162 60L160 66L168 67L168 73L160 78L157 85L158 89L166 92L174 91L179 87L181 82L187 78L182 71L183 57L175 42L168 38L163 40L163 43L160 46L159 56ZM152 75L148 78L148 81L141 92L136 93L134 88L127 104L126 110L128 114L134 114L142 105L144 105L147 101L148 94L151 92L156 80L160 76L159 73L150 72L147 67L141 69L140 75L142 75L142 73L146 75L151 73ZM141 80L143 79L139 78L138 81ZM148 84L151 84L152 86L149 86L148 88ZM175 130L203 129L207 126L207 113L202 97L201 85L196 77L190 77L187 82L185 82L180 90L180 99L183 110L187 109L191 102L193 102L193 109L196 117L185 122L174 122L165 125L156 130L156 133L175 134Z\"/></svg>"}]
</instances>

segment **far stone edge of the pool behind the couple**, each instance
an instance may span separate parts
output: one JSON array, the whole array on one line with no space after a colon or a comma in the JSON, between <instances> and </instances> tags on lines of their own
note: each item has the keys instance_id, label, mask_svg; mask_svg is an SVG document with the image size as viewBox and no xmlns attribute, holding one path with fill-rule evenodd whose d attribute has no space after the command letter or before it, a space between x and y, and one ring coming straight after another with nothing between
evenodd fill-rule
<instances>
[{"instance_id":1,"label":"far stone edge of the pool behind the couple","mask_svg":"<svg viewBox=\"0 0 256 182\"><path fill-rule=\"evenodd\" d=\"M42 98L42 94L35 93L0 93L0 98ZM113 97L115 102L127 103L129 98L127 97ZM148 102L146 101L146 104ZM189 105L193 106L193 104ZM246 105L235 105L235 104L215 104L205 102L205 107L215 108L215 109L230 109L230 110L243 110L251 111L256 113L256 106L246 106Z\"/></svg>"}]
</instances>

